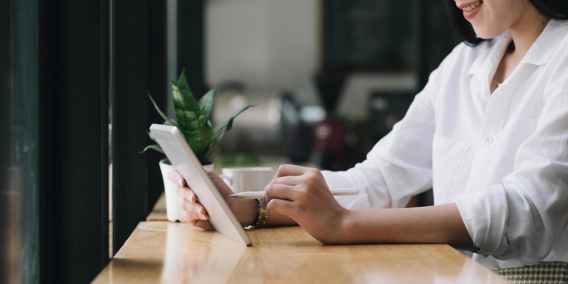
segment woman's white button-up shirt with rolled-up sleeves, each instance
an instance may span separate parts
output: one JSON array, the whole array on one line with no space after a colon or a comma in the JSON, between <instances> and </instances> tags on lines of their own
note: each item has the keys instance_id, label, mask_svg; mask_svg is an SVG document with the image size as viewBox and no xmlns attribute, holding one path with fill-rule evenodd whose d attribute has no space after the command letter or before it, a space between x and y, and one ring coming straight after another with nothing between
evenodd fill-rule
<instances>
[{"instance_id":1,"label":"woman's white button-up shirt with rolled-up sleeves","mask_svg":"<svg viewBox=\"0 0 568 284\"><path fill-rule=\"evenodd\" d=\"M568 24L550 22L509 77L490 82L509 31L460 44L432 72L406 116L346 172L324 171L350 209L404 207L433 187L456 202L490 269L568 262Z\"/></svg>"}]
</instances>

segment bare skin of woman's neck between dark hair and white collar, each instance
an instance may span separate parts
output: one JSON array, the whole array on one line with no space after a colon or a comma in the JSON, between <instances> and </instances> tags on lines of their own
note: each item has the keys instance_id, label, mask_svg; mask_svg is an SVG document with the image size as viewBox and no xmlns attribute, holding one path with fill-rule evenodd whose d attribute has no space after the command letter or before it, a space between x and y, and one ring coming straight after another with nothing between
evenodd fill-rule
<instances>
[{"instance_id":1,"label":"bare skin of woman's neck between dark hair and white collar","mask_svg":"<svg viewBox=\"0 0 568 284\"><path fill-rule=\"evenodd\" d=\"M515 51L511 52L511 56L520 61L544 30L548 21L549 19L534 10L532 6L529 7L521 19L510 28L515 44Z\"/></svg>"}]
</instances>

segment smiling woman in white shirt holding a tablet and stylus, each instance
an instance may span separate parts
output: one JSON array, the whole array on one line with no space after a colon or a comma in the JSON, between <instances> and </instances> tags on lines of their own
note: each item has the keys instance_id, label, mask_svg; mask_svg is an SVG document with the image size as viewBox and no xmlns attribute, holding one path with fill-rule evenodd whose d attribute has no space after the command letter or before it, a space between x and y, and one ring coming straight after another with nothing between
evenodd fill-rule
<instances>
[{"instance_id":1,"label":"smiling woman in white shirt holding a tablet and stylus","mask_svg":"<svg viewBox=\"0 0 568 284\"><path fill-rule=\"evenodd\" d=\"M445 243L491 269L568 261L568 3L449 2L465 43L404 119L346 172L281 166L268 225L297 223L324 244ZM170 179L187 222L210 228L183 178ZM361 194L329 193L346 187ZM435 206L400 208L431 187ZM227 202L258 223L256 201Z\"/></svg>"}]
</instances>

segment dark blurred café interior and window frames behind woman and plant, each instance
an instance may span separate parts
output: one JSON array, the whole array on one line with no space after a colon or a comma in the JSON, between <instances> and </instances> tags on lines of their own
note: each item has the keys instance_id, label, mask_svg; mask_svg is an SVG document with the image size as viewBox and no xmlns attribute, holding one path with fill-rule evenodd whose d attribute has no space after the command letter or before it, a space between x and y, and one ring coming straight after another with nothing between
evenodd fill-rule
<instances>
[{"instance_id":1,"label":"dark blurred caf\u00e9 interior and window frames behind woman and plant","mask_svg":"<svg viewBox=\"0 0 568 284\"><path fill-rule=\"evenodd\" d=\"M163 192L145 131L170 74L212 122L218 166L346 170L459 42L443 0L0 2L0 282L89 282ZM432 204L431 195L413 206Z\"/></svg>"}]
</instances>

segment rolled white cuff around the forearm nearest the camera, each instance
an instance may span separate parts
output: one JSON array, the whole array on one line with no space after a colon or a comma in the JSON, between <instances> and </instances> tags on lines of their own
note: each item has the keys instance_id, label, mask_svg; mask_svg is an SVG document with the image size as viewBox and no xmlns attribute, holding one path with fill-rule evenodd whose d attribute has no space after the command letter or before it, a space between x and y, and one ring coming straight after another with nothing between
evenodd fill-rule
<instances>
[{"instance_id":1,"label":"rolled white cuff around the forearm nearest the camera","mask_svg":"<svg viewBox=\"0 0 568 284\"><path fill-rule=\"evenodd\" d=\"M473 245L478 248L474 253L500 256L509 249L506 237L509 208L502 185L462 194L456 198L456 205Z\"/></svg>"}]
</instances>

